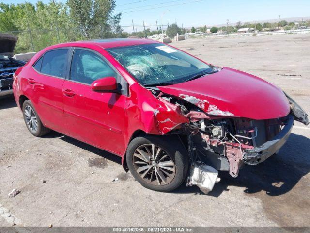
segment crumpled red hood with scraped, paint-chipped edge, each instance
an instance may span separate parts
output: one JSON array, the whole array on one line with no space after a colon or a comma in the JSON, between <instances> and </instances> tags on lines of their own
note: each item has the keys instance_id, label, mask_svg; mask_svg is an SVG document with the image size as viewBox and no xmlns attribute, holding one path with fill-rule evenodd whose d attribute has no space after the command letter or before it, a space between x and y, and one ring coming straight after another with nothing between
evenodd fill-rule
<instances>
[{"instance_id":1,"label":"crumpled red hood with scraped, paint-chipped edge","mask_svg":"<svg viewBox=\"0 0 310 233\"><path fill-rule=\"evenodd\" d=\"M281 89L228 67L186 83L158 88L214 116L262 120L287 116L290 112L290 104Z\"/></svg>"}]
</instances>

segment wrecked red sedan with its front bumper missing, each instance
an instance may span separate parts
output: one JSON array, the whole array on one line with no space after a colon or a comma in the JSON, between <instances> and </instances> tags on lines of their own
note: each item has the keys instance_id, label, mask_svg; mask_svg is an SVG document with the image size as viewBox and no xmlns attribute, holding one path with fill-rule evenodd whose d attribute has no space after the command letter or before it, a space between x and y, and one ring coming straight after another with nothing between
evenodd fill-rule
<instances>
[{"instance_id":1,"label":"wrecked red sedan with its front bumper missing","mask_svg":"<svg viewBox=\"0 0 310 233\"><path fill-rule=\"evenodd\" d=\"M279 87L146 39L64 43L38 52L13 90L35 136L51 130L122 157L144 187L185 180L207 192L277 153L307 114ZM186 179L187 178L187 179Z\"/></svg>"}]
</instances>

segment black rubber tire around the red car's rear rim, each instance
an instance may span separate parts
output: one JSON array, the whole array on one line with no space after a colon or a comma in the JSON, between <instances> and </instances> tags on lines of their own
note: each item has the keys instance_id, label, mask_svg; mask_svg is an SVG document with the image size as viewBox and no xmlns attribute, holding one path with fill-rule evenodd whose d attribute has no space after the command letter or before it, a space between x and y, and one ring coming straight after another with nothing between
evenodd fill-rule
<instances>
[{"instance_id":1,"label":"black rubber tire around the red car's rear rim","mask_svg":"<svg viewBox=\"0 0 310 233\"><path fill-rule=\"evenodd\" d=\"M33 111L33 114L34 114L34 116L35 116L35 118L36 118L36 122L37 122L36 125L37 125L37 127L34 127L34 126L33 126L34 123L28 124L28 122L29 122L28 118L29 118L29 117L26 116L26 113L25 113L25 109L26 109L26 108L27 108L27 109L30 109L30 108L31 108L31 110ZM28 111L28 112L29 112L29 111ZM31 114L32 114L32 112L31 112ZM34 136L36 136L36 137L41 137L41 136L43 136L43 135L45 135L45 134L47 134L47 133L50 132L50 129L46 128L46 127L42 124L42 122L41 122L41 120L40 120L40 117L39 117L39 115L37 114L37 112L35 111L35 109L34 109L34 107L33 107L33 104L31 103L30 100L25 100L24 103L23 103L23 117L24 117L24 121L25 121L25 124L26 124L26 126L27 126L27 129L29 130L29 132L30 132L32 135L34 135ZM32 125L32 127L31 127L31 125Z\"/></svg>"}]
</instances>

